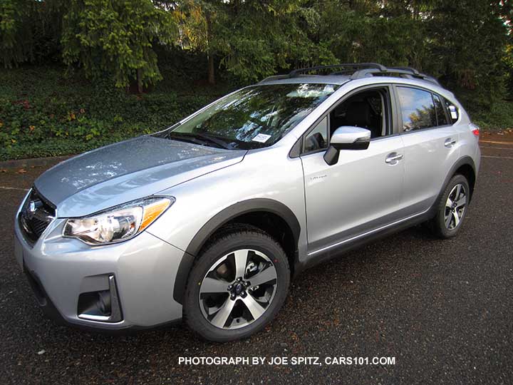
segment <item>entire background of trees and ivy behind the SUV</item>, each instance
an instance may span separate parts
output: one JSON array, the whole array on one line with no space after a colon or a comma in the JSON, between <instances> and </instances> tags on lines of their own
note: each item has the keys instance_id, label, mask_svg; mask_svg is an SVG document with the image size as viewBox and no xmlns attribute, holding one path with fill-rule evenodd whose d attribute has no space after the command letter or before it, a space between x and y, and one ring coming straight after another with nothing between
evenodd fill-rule
<instances>
[{"instance_id":1,"label":"entire background of trees and ivy behind the SUV","mask_svg":"<svg viewBox=\"0 0 513 385\"><path fill-rule=\"evenodd\" d=\"M513 126L507 0L1 0L0 158L171 125L291 68L375 61L437 76Z\"/></svg>"}]
</instances>

